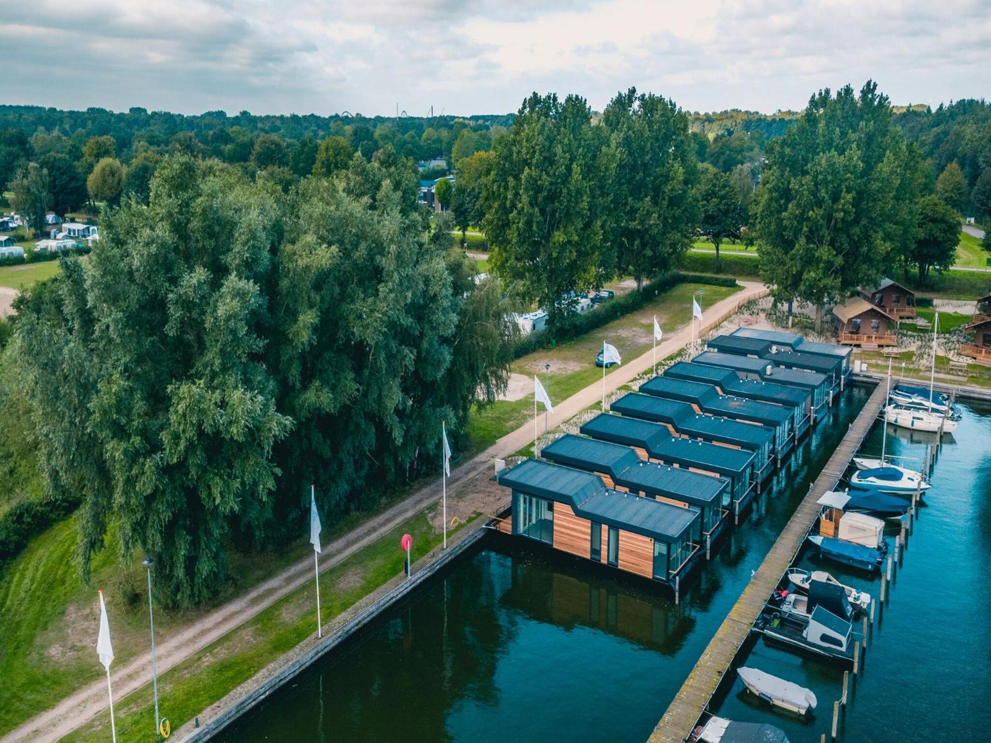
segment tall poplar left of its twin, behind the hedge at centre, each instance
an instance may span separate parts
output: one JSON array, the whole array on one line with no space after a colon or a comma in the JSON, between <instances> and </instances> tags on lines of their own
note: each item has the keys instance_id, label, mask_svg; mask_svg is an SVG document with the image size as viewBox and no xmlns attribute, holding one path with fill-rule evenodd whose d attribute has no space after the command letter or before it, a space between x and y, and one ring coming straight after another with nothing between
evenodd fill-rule
<instances>
[{"instance_id":1,"label":"tall poplar left of its twin, behind the hedge at centre","mask_svg":"<svg viewBox=\"0 0 991 743\"><path fill-rule=\"evenodd\" d=\"M533 93L498 140L483 190L491 265L555 327L569 316L572 292L598 288L615 270L604 255L605 199L597 198L611 163L606 131L594 131L591 116L578 96Z\"/></svg>"}]
</instances>

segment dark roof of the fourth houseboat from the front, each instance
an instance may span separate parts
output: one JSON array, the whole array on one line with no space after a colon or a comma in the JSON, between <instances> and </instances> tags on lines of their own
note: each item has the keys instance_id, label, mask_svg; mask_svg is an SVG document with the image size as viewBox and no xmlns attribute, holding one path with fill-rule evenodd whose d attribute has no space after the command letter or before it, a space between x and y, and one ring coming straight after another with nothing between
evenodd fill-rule
<instances>
[{"instance_id":1,"label":"dark roof of the fourth houseboat from the front","mask_svg":"<svg viewBox=\"0 0 991 743\"><path fill-rule=\"evenodd\" d=\"M764 426L697 414L687 402L649 394L629 392L613 402L611 409L635 418L672 423L680 433L747 449L769 447L774 440L774 431Z\"/></svg>"}]
</instances>

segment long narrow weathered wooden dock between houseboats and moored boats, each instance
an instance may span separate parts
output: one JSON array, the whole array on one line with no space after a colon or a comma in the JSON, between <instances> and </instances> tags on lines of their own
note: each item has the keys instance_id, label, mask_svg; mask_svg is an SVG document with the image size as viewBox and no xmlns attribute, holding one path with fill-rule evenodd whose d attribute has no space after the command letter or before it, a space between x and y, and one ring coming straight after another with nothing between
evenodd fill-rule
<instances>
[{"instance_id":1,"label":"long narrow weathered wooden dock between houseboats and moored boats","mask_svg":"<svg viewBox=\"0 0 991 743\"><path fill-rule=\"evenodd\" d=\"M885 386L878 384L826 462L823 472L813 482L809 494L799 503L764 562L719 625L699 662L651 733L649 743L682 743L698 724L723 675L749 636L764 603L778 587L781 577L795 560L799 548L816 523L820 510L816 501L842 477L871 424L877 419L884 398Z\"/></svg>"}]
</instances>

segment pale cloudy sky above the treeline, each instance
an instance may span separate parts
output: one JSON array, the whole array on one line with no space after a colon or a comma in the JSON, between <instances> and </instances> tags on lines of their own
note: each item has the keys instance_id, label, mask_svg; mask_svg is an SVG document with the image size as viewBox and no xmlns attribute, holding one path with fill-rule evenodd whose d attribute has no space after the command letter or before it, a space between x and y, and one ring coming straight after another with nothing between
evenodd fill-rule
<instances>
[{"instance_id":1,"label":"pale cloudy sky above the treeline","mask_svg":"<svg viewBox=\"0 0 991 743\"><path fill-rule=\"evenodd\" d=\"M895 103L991 97L991 0L0 0L0 103L201 113L802 108L876 79Z\"/></svg>"}]
</instances>

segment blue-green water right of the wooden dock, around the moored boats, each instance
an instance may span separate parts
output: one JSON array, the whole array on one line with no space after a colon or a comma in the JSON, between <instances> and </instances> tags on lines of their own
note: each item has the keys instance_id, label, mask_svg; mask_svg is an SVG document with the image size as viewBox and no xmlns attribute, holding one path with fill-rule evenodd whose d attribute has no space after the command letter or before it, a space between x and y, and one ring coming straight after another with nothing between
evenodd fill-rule
<instances>
[{"instance_id":1,"label":"blue-green water right of the wooden dock, around the moored boats","mask_svg":"<svg viewBox=\"0 0 991 743\"><path fill-rule=\"evenodd\" d=\"M890 600L868 637L868 651L850 704L841 713L844 741L991 740L991 407L962 405L963 420L943 447L933 487L920 509ZM888 430L888 451L919 460L933 434ZM894 444L894 446L892 446ZM879 454L875 426L864 451ZM897 531L888 541L894 546ZM805 568L824 568L846 584L878 596L880 576L806 556ZM818 717L810 724L784 719L752 703L739 680L719 707L733 719L777 719L793 743L818 742L828 732L842 671L805 660L763 640L741 665L759 668L815 691Z\"/></svg>"}]
</instances>

